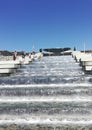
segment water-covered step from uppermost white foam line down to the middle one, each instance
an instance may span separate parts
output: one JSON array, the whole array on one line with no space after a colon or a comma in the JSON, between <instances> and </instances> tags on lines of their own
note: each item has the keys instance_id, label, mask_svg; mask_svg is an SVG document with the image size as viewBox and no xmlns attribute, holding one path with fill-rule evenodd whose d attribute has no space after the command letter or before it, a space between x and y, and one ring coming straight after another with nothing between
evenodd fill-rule
<instances>
[{"instance_id":1,"label":"water-covered step from uppermost white foam line down to the middle one","mask_svg":"<svg viewBox=\"0 0 92 130\"><path fill-rule=\"evenodd\" d=\"M1 85L2 97L91 97L91 84Z\"/></svg>"}]
</instances>

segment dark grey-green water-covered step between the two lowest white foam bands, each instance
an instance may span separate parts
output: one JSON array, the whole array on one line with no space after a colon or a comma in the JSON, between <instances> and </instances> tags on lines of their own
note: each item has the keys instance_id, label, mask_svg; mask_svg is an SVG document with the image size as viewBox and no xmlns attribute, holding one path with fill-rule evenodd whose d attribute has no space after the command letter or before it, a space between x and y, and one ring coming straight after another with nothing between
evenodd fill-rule
<instances>
[{"instance_id":1,"label":"dark grey-green water-covered step between the two lowest white foam bands","mask_svg":"<svg viewBox=\"0 0 92 130\"><path fill-rule=\"evenodd\" d=\"M0 102L0 117L5 115L27 114L29 116L91 116L92 102Z\"/></svg>"}]
</instances>

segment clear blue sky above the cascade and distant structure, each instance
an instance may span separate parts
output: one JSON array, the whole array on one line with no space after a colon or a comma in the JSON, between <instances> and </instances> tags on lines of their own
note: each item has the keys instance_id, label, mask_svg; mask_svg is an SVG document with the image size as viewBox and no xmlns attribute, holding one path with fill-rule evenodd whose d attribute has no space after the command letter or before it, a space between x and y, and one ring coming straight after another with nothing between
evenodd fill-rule
<instances>
[{"instance_id":1,"label":"clear blue sky above the cascade and distant structure","mask_svg":"<svg viewBox=\"0 0 92 130\"><path fill-rule=\"evenodd\" d=\"M92 0L0 0L0 50L92 49Z\"/></svg>"}]
</instances>

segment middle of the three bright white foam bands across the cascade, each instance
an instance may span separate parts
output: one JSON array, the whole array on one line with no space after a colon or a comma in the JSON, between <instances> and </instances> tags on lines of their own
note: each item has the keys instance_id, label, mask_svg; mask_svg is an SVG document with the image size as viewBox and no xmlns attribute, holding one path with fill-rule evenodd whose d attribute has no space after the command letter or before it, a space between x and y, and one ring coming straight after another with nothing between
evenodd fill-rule
<instances>
[{"instance_id":1,"label":"middle of the three bright white foam bands across the cascade","mask_svg":"<svg viewBox=\"0 0 92 130\"><path fill-rule=\"evenodd\" d=\"M83 96L59 96L59 97L2 97L0 103L30 103L30 102L92 102L92 97Z\"/></svg>"}]
</instances>

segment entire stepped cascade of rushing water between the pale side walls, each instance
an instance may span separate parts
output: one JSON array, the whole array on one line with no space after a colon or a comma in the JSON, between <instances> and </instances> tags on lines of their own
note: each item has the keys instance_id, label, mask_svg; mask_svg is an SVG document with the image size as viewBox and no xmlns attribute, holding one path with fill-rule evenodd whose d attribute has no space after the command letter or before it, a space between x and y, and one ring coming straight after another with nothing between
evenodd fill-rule
<instances>
[{"instance_id":1,"label":"entire stepped cascade of rushing water between the pale side walls","mask_svg":"<svg viewBox=\"0 0 92 130\"><path fill-rule=\"evenodd\" d=\"M71 56L43 57L0 77L0 126L92 129L92 77Z\"/></svg>"}]
</instances>

